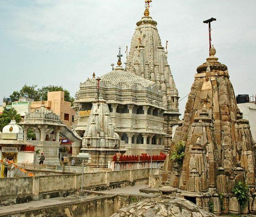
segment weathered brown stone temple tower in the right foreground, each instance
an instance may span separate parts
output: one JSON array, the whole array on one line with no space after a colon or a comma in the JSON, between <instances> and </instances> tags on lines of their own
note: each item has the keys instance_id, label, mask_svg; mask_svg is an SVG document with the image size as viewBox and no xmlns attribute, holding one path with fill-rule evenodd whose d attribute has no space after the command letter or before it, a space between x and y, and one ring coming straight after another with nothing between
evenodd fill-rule
<instances>
[{"instance_id":1,"label":"weathered brown stone temple tower in the right foreground","mask_svg":"<svg viewBox=\"0 0 256 217\"><path fill-rule=\"evenodd\" d=\"M215 53L211 47L206 63L197 67L184 121L172 141L186 143L183 163L166 161L161 190L207 210L213 204L215 214L255 212L255 142L236 104L227 66ZM245 207L232 192L239 181L250 189Z\"/></svg>"}]
</instances>

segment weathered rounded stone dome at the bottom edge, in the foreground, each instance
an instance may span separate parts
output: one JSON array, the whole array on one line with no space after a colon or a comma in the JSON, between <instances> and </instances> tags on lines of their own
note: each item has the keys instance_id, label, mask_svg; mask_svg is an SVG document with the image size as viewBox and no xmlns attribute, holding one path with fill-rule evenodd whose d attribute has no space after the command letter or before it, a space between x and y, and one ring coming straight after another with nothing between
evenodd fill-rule
<instances>
[{"instance_id":1,"label":"weathered rounded stone dome at the bottom edge, in the foreground","mask_svg":"<svg viewBox=\"0 0 256 217\"><path fill-rule=\"evenodd\" d=\"M131 204L118 210L117 213L111 217L211 217L215 216L212 213L202 209L201 207L193 204L192 202L179 198L170 197L163 198L157 197L153 199L146 199L136 204Z\"/></svg>"}]
</instances>

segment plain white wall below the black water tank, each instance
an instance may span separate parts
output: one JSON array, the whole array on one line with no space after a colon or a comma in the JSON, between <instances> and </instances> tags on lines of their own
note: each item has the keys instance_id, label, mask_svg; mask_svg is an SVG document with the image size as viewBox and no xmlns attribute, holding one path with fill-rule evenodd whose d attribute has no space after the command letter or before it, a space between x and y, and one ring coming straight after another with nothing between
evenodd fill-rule
<instances>
[{"instance_id":1,"label":"plain white wall below the black water tank","mask_svg":"<svg viewBox=\"0 0 256 217\"><path fill-rule=\"evenodd\" d=\"M256 104L255 103L239 103L237 104L243 114L243 119L249 120L251 126L251 134L256 141Z\"/></svg>"}]
</instances>

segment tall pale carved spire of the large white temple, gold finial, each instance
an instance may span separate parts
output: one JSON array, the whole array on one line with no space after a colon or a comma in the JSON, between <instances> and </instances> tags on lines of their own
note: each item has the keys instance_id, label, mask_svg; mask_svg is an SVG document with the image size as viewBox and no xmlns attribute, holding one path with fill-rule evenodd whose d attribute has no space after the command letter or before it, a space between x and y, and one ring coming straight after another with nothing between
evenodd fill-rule
<instances>
[{"instance_id":1,"label":"tall pale carved spire of the large white temple, gold finial","mask_svg":"<svg viewBox=\"0 0 256 217\"><path fill-rule=\"evenodd\" d=\"M146 4L143 18L136 24L125 65L127 71L153 81L161 90L163 103L167 107L167 111L163 114L164 130L169 135L165 137L164 144L170 145L172 129L174 130L172 127L179 121L179 92L168 65L167 46L166 49L162 46L156 27L157 22L149 15L149 7Z\"/></svg>"}]
</instances>

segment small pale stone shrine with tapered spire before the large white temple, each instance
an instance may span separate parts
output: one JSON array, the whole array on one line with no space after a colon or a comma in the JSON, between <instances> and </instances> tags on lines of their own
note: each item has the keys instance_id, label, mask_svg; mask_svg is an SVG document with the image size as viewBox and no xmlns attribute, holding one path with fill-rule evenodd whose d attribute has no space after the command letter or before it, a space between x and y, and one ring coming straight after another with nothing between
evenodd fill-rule
<instances>
[{"instance_id":1,"label":"small pale stone shrine with tapered spire before the large white temple","mask_svg":"<svg viewBox=\"0 0 256 217\"><path fill-rule=\"evenodd\" d=\"M109 106L104 98L99 97L91 109L80 150L91 156L86 166L108 168L108 163L112 161L114 154L117 152L124 154L126 151L111 122Z\"/></svg>"}]
</instances>

